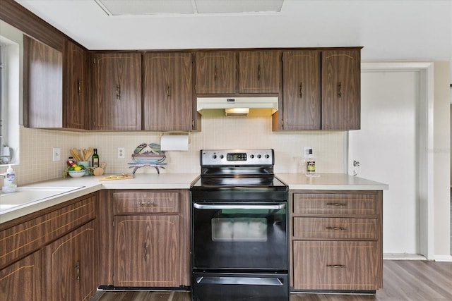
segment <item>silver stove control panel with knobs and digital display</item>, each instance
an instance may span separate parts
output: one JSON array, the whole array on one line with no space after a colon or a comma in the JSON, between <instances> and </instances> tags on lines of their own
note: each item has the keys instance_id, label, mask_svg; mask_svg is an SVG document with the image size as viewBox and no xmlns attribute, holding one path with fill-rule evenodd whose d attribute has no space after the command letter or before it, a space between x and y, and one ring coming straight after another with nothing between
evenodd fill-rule
<instances>
[{"instance_id":1,"label":"silver stove control panel with knobs and digital display","mask_svg":"<svg viewBox=\"0 0 452 301\"><path fill-rule=\"evenodd\" d=\"M201 149L201 166L273 166L273 149Z\"/></svg>"}]
</instances>

